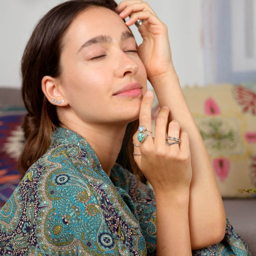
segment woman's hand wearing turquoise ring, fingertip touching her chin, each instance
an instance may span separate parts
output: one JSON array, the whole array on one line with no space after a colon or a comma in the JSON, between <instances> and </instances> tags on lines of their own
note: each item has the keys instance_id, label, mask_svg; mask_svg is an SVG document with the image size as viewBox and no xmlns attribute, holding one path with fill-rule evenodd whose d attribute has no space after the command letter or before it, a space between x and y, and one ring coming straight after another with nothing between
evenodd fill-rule
<instances>
[{"instance_id":1,"label":"woman's hand wearing turquoise ring, fingertip touching her chin","mask_svg":"<svg viewBox=\"0 0 256 256\"><path fill-rule=\"evenodd\" d=\"M139 117L140 125L148 130L152 130L152 103L153 93L148 91L143 97ZM141 154L134 155L134 160L154 191L171 195L182 190L189 191L192 169L188 134L180 130L180 122L177 120L172 120L166 131L168 115L167 107L160 109L156 118L155 138L149 135L144 142L140 143L137 138L138 132L136 132L133 141L140 145L140 147L134 145L134 154ZM167 145L166 132L168 136L180 138L180 144ZM170 142L175 141L169 140Z\"/></svg>"}]
</instances>

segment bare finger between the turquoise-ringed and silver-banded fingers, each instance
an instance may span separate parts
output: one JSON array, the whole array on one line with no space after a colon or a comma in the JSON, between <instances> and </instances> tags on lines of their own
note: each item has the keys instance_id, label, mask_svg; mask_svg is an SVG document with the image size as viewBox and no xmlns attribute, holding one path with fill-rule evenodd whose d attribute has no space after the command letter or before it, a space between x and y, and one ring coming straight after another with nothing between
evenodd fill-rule
<instances>
[{"instance_id":1,"label":"bare finger between the turquoise-ringed and silver-banded fingers","mask_svg":"<svg viewBox=\"0 0 256 256\"><path fill-rule=\"evenodd\" d=\"M155 145L156 147L165 147L166 145L166 127L168 122L169 108L160 109L155 122Z\"/></svg>"}]
</instances>

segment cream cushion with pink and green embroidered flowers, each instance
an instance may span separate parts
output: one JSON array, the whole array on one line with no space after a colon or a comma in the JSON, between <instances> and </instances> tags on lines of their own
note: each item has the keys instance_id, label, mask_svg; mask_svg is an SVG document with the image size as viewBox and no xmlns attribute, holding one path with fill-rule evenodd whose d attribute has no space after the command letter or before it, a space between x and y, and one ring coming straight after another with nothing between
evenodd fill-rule
<instances>
[{"instance_id":1,"label":"cream cushion with pink and green embroidered flowers","mask_svg":"<svg viewBox=\"0 0 256 256\"><path fill-rule=\"evenodd\" d=\"M223 197L248 197L256 187L256 84L185 87ZM155 97L156 98L156 97ZM156 117L158 103L153 106Z\"/></svg>"}]
</instances>

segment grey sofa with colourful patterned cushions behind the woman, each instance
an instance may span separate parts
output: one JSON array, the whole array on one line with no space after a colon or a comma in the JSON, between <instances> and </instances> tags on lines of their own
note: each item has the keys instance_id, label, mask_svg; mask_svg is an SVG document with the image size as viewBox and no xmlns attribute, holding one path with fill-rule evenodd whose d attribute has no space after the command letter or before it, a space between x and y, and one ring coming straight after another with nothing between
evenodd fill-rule
<instances>
[{"instance_id":1,"label":"grey sofa with colourful patterned cushions behind the woman","mask_svg":"<svg viewBox=\"0 0 256 256\"><path fill-rule=\"evenodd\" d=\"M241 193L256 187L256 84L192 86L183 92L212 160L226 216L256 255L256 194ZM158 110L155 97L153 121ZM25 113L20 90L0 88L0 208L21 178L17 160Z\"/></svg>"}]
</instances>

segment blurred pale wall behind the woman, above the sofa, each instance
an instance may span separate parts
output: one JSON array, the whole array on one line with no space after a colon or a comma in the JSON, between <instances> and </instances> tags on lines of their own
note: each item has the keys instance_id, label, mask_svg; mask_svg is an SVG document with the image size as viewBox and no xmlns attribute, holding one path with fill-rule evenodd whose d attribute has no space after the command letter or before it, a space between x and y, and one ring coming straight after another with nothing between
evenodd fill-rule
<instances>
[{"instance_id":1,"label":"blurred pale wall behind the woman, above the sofa","mask_svg":"<svg viewBox=\"0 0 256 256\"><path fill-rule=\"evenodd\" d=\"M20 59L37 21L61 0L1 1L0 86L20 87ZM120 1L119 1L120 2ZM181 86L256 79L256 0L149 0L168 26ZM141 37L132 26L138 44Z\"/></svg>"}]
</instances>

